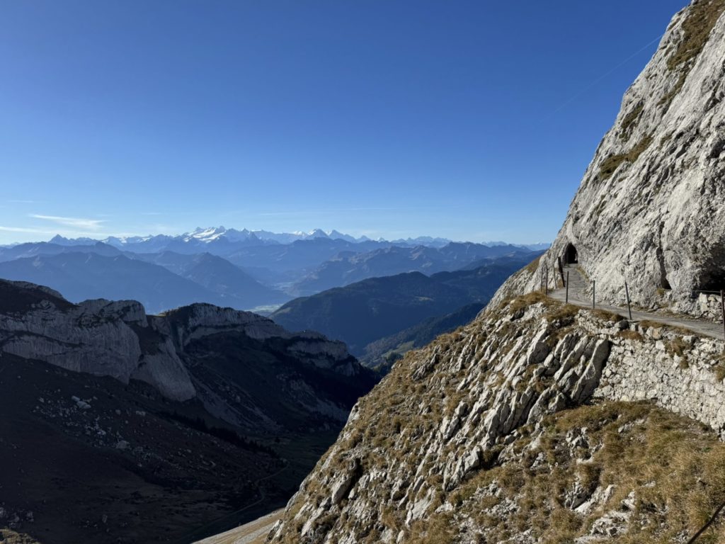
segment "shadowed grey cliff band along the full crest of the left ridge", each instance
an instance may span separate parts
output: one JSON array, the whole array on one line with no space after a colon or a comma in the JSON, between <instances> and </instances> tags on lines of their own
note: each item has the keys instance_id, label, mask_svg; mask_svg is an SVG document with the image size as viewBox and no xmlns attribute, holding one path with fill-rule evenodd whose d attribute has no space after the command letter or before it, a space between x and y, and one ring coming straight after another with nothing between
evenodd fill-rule
<instances>
[{"instance_id":1,"label":"shadowed grey cliff band along the full crest of the left ridge","mask_svg":"<svg viewBox=\"0 0 725 544\"><path fill-rule=\"evenodd\" d=\"M293 334L268 318L231 308L195 304L146 316L144 307L133 300L87 300L75 305L51 289L3 280L0 295L0 355L43 360L124 383L140 380L172 400L199 395L199 381L192 378L183 354L192 342L214 334L283 340L289 344L285 349L299 355L303 364L343 376L364 371L341 342L317 333ZM202 398L209 395L207 391ZM344 410L327 399L307 397L315 411L344 417L339 413Z\"/></svg>"}]
</instances>

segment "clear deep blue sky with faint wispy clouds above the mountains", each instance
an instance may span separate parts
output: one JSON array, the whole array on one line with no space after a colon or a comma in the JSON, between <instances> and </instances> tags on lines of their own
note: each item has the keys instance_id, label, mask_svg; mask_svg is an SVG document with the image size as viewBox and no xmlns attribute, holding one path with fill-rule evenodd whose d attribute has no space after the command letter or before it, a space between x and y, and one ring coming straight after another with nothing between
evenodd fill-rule
<instances>
[{"instance_id":1,"label":"clear deep blue sky with faint wispy clouds above the mountains","mask_svg":"<svg viewBox=\"0 0 725 544\"><path fill-rule=\"evenodd\" d=\"M550 240L684 3L4 1L0 244Z\"/></svg>"}]
</instances>

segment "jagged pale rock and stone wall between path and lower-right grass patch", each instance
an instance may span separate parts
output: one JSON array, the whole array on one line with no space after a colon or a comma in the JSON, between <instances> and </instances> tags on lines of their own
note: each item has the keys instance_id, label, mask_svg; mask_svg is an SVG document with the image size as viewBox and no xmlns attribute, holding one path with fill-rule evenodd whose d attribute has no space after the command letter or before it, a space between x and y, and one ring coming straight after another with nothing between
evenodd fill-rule
<instances>
[{"instance_id":1,"label":"jagged pale rock and stone wall between path and lower-right grass patch","mask_svg":"<svg viewBox=\"0 0 725 544\"><path fill-rule=\"evenodd\" d=\"M551 414L596 399L649 400L722 434L723 347L544 297L507 302L408 355L360 400L270 540L418 542L409 540L415 527L440 508L456 511L450 503L468 480L521 461L510 445L543 432ZM587 429L567 429L566 441L595 447ZM605 487L597 499L573 485L560 500L588 516L607 502ZM588 536L624 530L617 508Z\"/></svg>"}]
</instances>

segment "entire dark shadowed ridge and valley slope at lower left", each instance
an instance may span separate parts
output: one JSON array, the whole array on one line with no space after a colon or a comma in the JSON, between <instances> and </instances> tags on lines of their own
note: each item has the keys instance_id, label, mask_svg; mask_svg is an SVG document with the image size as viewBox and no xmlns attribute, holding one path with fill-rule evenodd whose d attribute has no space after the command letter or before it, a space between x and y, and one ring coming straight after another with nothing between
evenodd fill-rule
<instances>
[{"instance_id":1,"label":"entire dark shadowed ridge and valley slope at lower left","mask_svg":"<svg viewBox=\"0 0 725 544\"><path fill-rule=\"evenodd\" d=\"M254 313L0 280L0 540L234 527L289 498L376 381L341 342Z\"/></svg>"}]
</instances>

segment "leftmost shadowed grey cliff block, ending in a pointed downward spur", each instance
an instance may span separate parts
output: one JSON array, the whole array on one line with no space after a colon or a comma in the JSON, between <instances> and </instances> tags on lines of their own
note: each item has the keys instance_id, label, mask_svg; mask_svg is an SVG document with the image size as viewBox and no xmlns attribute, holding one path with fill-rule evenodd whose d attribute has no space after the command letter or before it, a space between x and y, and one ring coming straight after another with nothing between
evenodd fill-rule
<instances>
[{"instance_id":1,"label":"leftmost shadowed grey cliff block, ending in a pointed downward spur","mask_svg":"<svg viewBox=\"0 0 725 544\"><path fill-rule=\"evenodd\" d=\"M3 283L10 288L6 297L39 297L22 311L0 311L0 352L124 383L140 379L173 400L194 397L194 385L173 345L152 329L138 302L72 305L33 284ZM13 287L14 294L7 294Z\"/></svg>"}]
</instances>

